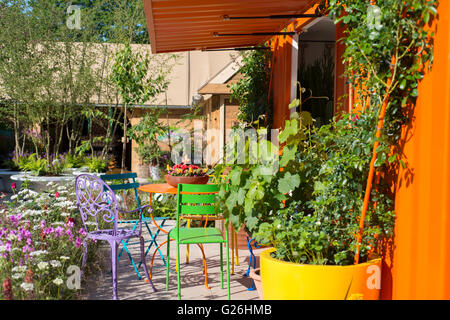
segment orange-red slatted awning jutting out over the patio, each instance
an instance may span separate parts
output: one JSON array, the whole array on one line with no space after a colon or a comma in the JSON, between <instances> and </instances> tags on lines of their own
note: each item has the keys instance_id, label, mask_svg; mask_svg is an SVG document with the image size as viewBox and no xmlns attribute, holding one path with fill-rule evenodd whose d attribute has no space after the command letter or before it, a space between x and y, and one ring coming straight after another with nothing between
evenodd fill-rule
<instances>
[{"instance_id":1,"label":"orange-red slatted awning jutting out over the patio","mask_svg":"<svg viewBox=\"0 0 450 320\"><path fill-rule=\"evenodd\" d=\"M143 0L152 53L255 46L319 0ZM234 19L238 17L268 17ZM224 19L225 17L225 19ZM231 19L227 20L226 17ZM255 34L258 35L248 35ZM259 33L266 33L259 35ZM240 34L223 36L223 34ZM244 35L242 35L244 34Z\"/></svg>"}]
</instances>

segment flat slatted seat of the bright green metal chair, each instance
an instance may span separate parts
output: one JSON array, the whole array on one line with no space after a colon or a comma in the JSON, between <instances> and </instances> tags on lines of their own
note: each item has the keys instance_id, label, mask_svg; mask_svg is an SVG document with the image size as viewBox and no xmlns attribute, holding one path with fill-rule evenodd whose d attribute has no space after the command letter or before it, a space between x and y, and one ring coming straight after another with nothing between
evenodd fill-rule
<instances>
[{"instance_id":1,"label":"flat slatted seat of the bright green metal chair","mask_svg":"<svg viewBox=\"0 0 450 320\"><path fill-rule=\"evenodd\" d=\"M217 228L180 228L179 239L176 231L176 229L170 230L169 237L178 240L180 244L226 242Z\"/></svg>"}]
</instances>

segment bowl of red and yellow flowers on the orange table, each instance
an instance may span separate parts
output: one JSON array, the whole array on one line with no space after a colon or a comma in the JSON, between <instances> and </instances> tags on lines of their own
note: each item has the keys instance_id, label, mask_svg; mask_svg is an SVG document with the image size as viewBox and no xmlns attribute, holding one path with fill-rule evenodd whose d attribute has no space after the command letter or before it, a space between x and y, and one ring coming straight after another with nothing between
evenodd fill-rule
<instances>
[{"instance_id":1,"label":"bowl of red and yellow flowers on the orange table","mask_svg":"<svg viewBox=\"0 0 450 320\"><path fill-rule=\"evenodd\" d=\"M209 176L208 169L202 169L193 164L176 164L173 167L167 165L167 174L165 179L168 184L178 187L179 183L187 184L206 184Z\"/></svg>"}]
</instances>

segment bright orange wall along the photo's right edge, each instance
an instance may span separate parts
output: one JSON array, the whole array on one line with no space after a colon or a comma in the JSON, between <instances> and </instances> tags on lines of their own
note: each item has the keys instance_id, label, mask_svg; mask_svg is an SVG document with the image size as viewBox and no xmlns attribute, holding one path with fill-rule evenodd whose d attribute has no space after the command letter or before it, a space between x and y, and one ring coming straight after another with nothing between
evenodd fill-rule
<instances>
[{"instance_id":1,"label":"bright orange wall along the photo's right edge","mask_svg":"<svg viewBox=\"0 0 450 320\"><path fill-rule=\"evenodd\" d=\"M434 65L410 108L396 181L394 252L384 299L450 299L450 2L440 1Z\"/></svg>"}]
</instances>

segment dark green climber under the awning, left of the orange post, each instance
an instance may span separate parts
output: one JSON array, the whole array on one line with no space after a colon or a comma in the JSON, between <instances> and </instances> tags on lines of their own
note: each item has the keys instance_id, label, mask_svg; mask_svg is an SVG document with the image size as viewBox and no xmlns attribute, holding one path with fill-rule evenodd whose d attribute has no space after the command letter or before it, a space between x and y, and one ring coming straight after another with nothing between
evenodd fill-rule
<instances>
[{"instance_id":1,"label":"dark green climber under the awning, left of the orange post","mask_svg":"<svg viewBox=\"0 0 450 320\"><path fill-rule=\"evenodd\" d=\"M265 117L264 126L271 121L271 102L269 101L270 83L270 50L254 50L244 52L243 66L240 72L243 78L231 84L231 100L239 103L238 119L253 123Z\"/></svg>"}]
</instances>

